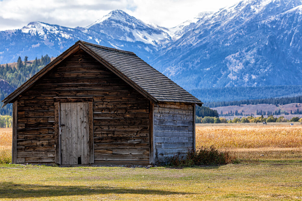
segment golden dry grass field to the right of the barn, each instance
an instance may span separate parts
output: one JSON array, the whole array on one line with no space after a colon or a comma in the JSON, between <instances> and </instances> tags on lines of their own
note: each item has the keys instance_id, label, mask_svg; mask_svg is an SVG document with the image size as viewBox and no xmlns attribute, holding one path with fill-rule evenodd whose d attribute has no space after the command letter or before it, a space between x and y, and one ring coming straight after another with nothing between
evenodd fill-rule
<instances>
[{"instance_id":1,"label":"golden dry grass field to the right of the barn","mask_svg":"<svg viewBox=\"0 0 302 201\"><path fill-rule=\"evenodd\" d=\"M214 145L244 160L295 160L302 155L302 127L288 125L197 126L196 146Z\"/></svg>"}]
</instances>

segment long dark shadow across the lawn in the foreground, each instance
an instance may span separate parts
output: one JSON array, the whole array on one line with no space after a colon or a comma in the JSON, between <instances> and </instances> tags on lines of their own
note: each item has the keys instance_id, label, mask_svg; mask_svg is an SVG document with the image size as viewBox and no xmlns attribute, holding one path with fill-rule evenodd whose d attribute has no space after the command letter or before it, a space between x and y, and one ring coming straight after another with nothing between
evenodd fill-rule
<instances>
[{"instance_id":1,"label":"long dark shadow across the lawn in the foreground","mask_svg":"<svg viewBox=\"0 0 302 201\"><path fill-rule=\"evenodd\" d=\"M28 197L51 197L51 196L75 196L93 194L153 194L153 195L172 195L172 194L193 194L184 192L174 192L167 190L152 189L130 189L116 188L109 186L56 186L56 185L37 185L37 184L16 184L13 182L0 183L0 199L21 199ZM198 194L198 193L194 193Z\"/></svg>"}]
</instances>

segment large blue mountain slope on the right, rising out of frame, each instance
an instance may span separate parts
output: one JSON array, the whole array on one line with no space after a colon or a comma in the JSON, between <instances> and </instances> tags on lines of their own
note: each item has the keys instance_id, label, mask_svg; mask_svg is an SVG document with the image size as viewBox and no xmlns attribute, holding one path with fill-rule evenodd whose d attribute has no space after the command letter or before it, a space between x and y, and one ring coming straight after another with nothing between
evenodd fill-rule
<instances>
[{"instance_id":1,"label":"large blue mountain slope on the right, rising out of frame","mask_svg":"<svg viewBox=\"0 0 302 201\"><path fill-rule=\"evenodd\" d=\"M301 85L301 25L301 1L242 1L199 20L151 63L186 89Z\"/></svg>"}]
</instances>

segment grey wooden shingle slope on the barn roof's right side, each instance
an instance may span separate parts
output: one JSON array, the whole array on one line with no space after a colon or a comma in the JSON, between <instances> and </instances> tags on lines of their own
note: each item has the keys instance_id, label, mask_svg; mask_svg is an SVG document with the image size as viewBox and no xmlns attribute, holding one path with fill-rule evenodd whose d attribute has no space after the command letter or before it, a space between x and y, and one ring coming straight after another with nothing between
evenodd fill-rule
<instances>
[{"instance_id":1,"label":"grey wooden shingle slope on the barn roof's right side","mask_svg":"<svg viewBox=\"0 0 302 201\"><path fill-rule=\"evenodd\" d=\"M202 103L133 52L81 42L158 101Z\"/></svg>"}]
</instances>

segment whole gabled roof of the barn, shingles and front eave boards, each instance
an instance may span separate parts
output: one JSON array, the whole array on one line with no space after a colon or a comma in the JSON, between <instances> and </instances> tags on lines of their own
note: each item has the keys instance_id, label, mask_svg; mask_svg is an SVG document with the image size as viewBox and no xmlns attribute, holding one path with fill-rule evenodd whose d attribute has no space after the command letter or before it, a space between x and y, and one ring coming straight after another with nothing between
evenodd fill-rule
<instances>
[{"instance_id":1,"label":"whole gabled roof of the barn, shingles and front eave boards","mask_svg":"<svg viewBox=\"0 0 302 201\"><path fill-rule=\"evenodd\" d=\"M133 52L78 41L2 100L4 105L14 101L21 93L33 86L40 77L78 49L83 49L100 63L104 64L104 66L109 68L152 102L202 104L200 100L192 96L155 68L151 67Z\"/></svg>"}]
</instances>

